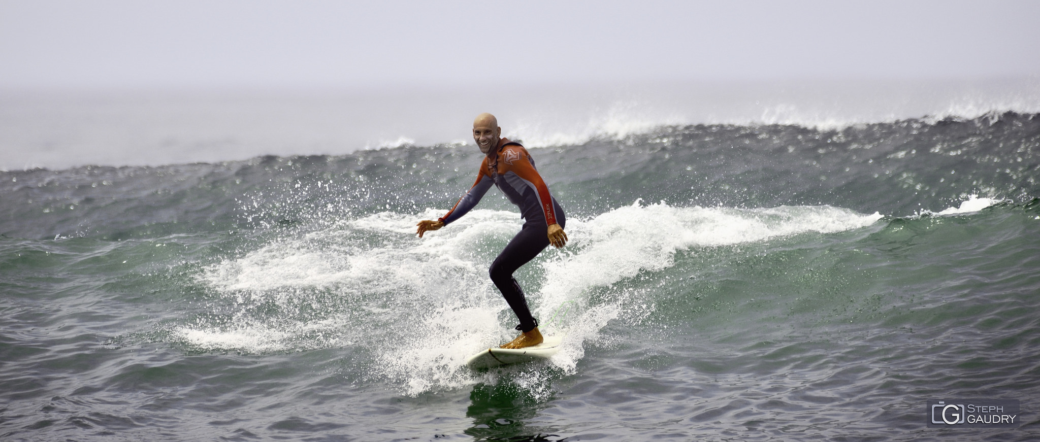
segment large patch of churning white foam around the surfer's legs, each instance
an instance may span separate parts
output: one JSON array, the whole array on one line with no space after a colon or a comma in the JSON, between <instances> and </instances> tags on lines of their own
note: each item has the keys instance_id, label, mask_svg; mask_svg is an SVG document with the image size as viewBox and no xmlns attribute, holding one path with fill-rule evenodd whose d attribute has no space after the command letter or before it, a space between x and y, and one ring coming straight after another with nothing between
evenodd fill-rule
<instances>
[{"instance_id":1,"label":"large patch of churning white foam around the surfer's legs","mask_svg":"<svg viewBox=\"0 0 1040 442\"><path fill-rule=\"evenodd\" d=\"M439 214L372 214L210 266L200 279L226 304L241 306L241 313L230 326L188 324L177 334L200 348L244 352L352 342L374 355L373 376L406 394L492 380L495 372L478 378L463 364L469 355L515 333L516 319L490 283L487 267L519 227L518 219L513 212L474 210L448 228L416 238L416 219ZM729 209L636 202L569 220L568 246L545 252L528 264L538 266L535 274L544 279L528 301L546 334L566 334L564 349L551 364L571 372L584 346L604 339L601 330L609 321L632 320L653 308L652 300L620 288L608 288L606 302L590 305L586 297L591 289L670 267L677 253L691 248L840 232L880 217L829 206ZM357 237L365 240L352 239ZM251 306L261 304L282 313L276 320L251 317ZM575 307L567 320L549 323L565 304ZM317 316L296 313L305 308ZM517 375L514 382L526 379ZM527 381L536 385L544 374L531 375Z\"/></svg>"}]
</instances>

